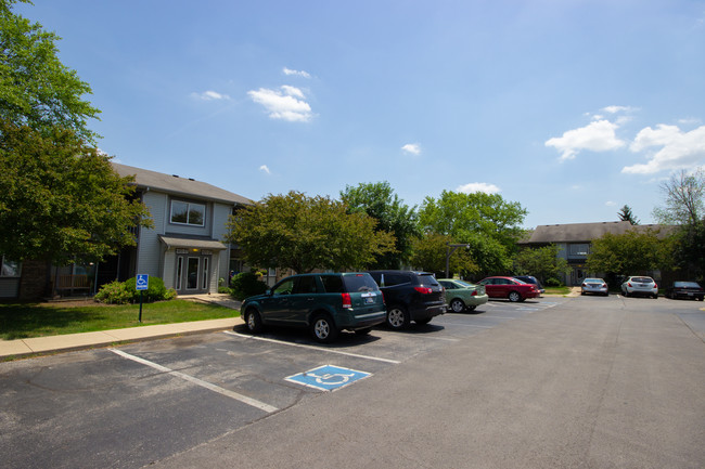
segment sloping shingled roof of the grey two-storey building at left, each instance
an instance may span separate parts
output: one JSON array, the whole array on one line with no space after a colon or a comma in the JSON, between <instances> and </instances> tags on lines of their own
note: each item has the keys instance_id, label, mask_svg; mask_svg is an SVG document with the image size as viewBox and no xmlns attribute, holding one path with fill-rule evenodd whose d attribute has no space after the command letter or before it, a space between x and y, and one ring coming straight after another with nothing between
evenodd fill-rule
<instances>
[{"instance_id":1,"label":"sloping shingled roof of the grey two-storey building at left","mask_svg":"<svg viewBox=\"0 0 705 469\"><path fill-rule=\"evenodd\" d=\"M112 161L111 164L119 175L133 175L134 182L140 188L166 192L183 197L218 200L226 204L254 204L253 200L246 197L233 194L232 192L220 187L216 187L215 185L210 185L206 182L196 181L189 178L180 178L176 174L165 174L142 168L134 168L132 166L120 165Z\"/></svg>"}]
</instances>

